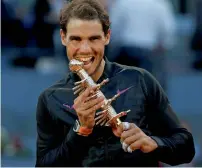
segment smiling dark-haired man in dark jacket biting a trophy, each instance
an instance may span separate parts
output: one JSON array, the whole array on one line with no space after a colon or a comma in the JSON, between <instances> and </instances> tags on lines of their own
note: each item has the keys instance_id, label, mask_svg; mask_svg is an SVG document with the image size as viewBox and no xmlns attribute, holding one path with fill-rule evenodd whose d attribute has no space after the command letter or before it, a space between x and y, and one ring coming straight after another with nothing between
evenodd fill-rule
<instances>
[{"instance_id":1,"label":"smiling dark-haired man in dark jacket biting a trophy","mask_svg":"<svg viewBox=\"0 0 202 168\"><path fill-rule=\"evenodd\" d=\"M69 60L83 61L96 83L109 98L125 90L112 106L121 118L120 137L112 129L95 124L103 97L91 99L95 87L73 94L80 79L69 72L65 79L46 89L37 106L36 166L158 166L188 163L195 150L193 138L183 128L158 82L146 70L110 63L104 58L110 41L110 21L96 0L74 0L60 16L61 41ZM126 89L127 90L127 89ZM127 125L127 129L126 129Z\"/></svg>"}]
</instances>

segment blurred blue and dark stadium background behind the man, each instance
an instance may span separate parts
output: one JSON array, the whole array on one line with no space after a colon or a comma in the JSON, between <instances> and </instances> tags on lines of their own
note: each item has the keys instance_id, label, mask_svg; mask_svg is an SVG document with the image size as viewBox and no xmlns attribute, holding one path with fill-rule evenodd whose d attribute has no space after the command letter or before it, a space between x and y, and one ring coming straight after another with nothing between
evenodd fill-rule
<instances>
[{"instance_id":1,"label":"blurred blue and dark stadium background behind the man","mask_svg":"<svg viewBox=\"0 0 202 168\"><path fill-rule=\"evenodd\" d=\"M112 22L106 56L159 80L193 133L196 155L188 166L202 166L202 0L100 1ZM68 71L58 23L63 2L1 0L3 167L35 164L38 96Z\"/></svg>"}]
</instances>

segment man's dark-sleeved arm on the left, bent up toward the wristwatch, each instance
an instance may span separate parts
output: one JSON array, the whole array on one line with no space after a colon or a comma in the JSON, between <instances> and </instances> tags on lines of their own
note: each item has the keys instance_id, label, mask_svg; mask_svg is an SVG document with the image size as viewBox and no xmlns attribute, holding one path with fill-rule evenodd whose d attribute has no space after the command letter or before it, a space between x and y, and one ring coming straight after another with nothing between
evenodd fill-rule
<instances>
[{"instance_id":1,"label":"man's dark-sleeved arm on the left, bent up toward the wristwatch","mask_svg":"<svg viewBox=\"0 0 202 168\"><path fill-rule=\"evenodd\" d=\"M37 161L36 166L71 166L78 163L88 149L90 137L80 136L68 128L64 135L64 126L59 125L50 115L43 94L37 105ZM78 161L78 162L77 162Z\"/></svg>"}]
</instances>

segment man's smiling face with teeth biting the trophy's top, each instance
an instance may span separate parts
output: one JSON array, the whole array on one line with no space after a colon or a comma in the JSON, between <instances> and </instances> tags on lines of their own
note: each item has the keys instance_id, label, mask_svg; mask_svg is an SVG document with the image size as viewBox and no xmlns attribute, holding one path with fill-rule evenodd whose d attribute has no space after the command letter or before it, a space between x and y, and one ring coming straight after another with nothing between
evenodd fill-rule
<instances>
[{"instance_id":1,"label":"man's smiling face with teeth biting the trophy's top","mask_svg":"<svg viewBox=\"0 0 202 168\"><path fill-rule=\"evenodd\" d=\"M84 63L89 75L100 71L105 45L109 43L110 32L105 36L98 20L71 19L67 25L67 33L61 30L62 44L66 46L69 60L77 59Z\"/></svg>"}]
</instances>

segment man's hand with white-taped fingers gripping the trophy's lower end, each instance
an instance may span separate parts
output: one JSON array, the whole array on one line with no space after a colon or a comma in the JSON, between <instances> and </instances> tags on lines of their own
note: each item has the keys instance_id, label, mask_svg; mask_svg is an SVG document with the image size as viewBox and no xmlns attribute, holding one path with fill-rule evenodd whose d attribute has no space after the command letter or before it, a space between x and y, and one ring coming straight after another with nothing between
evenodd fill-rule
<instances>
[{"instance_id":1,"label":"man's hand with white-taped fingers gripping the trophy's lower end","mask_svg":"<svg viewBox=\"0 0 202 168\"><path fill-rule=\"evenodd\" d=\"M125 152L132 153L140 149L144 153L149 153L158 147L157 143L135 124L123 123L119 129L122 131L121 142Z\"/></svg>"}]
</instances>

